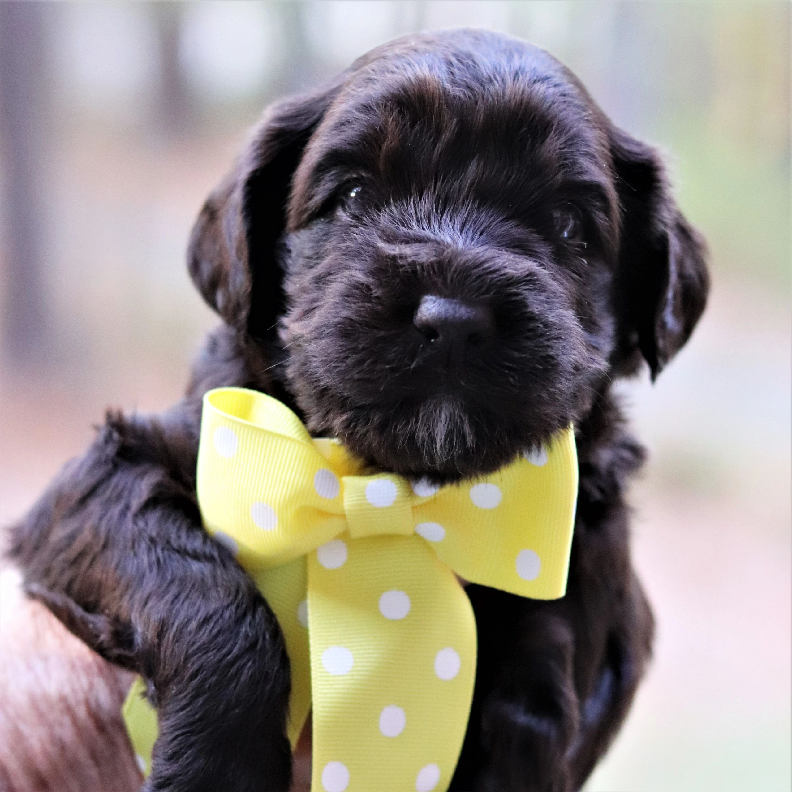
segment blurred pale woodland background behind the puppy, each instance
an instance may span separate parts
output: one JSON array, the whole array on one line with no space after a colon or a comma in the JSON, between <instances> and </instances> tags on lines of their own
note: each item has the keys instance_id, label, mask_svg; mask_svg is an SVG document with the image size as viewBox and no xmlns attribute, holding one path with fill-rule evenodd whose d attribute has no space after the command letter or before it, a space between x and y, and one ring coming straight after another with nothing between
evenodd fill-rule
<instances>
[{"instance_id":1,"label":"blurred pale woodland background behind the puppy","mask_svg":"<svg viewBox=\"0 0 792 792\"><path fill-rule=\"evenodd\" d=\"M789 792L790 5L0 2L0 524L106 406L174 402L215 318L192 219L268 101L405 32L522 36L668 151L714 291L655 386L634 554L649 679L589 792Z\"/></svg>"}]
</instances>

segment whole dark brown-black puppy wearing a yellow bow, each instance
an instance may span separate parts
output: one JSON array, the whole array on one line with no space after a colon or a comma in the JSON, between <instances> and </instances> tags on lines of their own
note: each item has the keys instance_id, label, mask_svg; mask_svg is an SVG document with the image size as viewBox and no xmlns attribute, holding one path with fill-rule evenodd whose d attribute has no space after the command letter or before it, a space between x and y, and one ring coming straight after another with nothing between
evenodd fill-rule
<instances>
[{"instance_id":1,"label":"whole dark brown-black puppy wearing a yellow bow","mask_svg":"<svg viewBox=\"0 0 792 792\"><path fill-rule=\"evenodd\" d=\"M109 414L13 529L29 592L147 680L147 790L287 790L279 627L196 505L200 400L263 390L372 466L457 482L573 423L569 588L466 588L473 708L452 790L581 787L623 722L653 622L624 489L642 463L611 383L656 376L708 289L657 153L546 52L489 32L408 36L265 113L193 230L223 319L185 399Z\"/></svg>"}]
</instances>

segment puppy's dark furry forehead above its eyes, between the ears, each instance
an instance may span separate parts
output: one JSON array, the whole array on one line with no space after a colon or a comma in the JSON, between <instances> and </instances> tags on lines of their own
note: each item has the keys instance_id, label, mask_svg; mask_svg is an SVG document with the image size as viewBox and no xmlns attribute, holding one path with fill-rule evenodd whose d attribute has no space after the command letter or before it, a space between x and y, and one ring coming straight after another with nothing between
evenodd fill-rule
<instances>
[{"instance_id":1,"label":"puppy's dark furry forehead above its eyes, between the ears","mask_svg":"<svg viewBox=\"0 0 792 792\"><path fill-rule=\"evenodd\" d=\"M292 219L322 199L322 183L356 176L397 190L439 178L607 189L607 128L573 75L529 45L517 55L387 55L351 71L314 132L295 173Z\"/></svg>"}]
</instances>

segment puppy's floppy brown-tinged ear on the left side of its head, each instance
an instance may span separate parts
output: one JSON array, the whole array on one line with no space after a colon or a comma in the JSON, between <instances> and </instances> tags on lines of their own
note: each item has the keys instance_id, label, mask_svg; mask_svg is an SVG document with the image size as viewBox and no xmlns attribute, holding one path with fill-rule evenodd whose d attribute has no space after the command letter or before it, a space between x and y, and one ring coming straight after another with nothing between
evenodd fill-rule
<instances>
[{"instance_id":1,"label":"puppy's floppy brown-tinged ear on the left side of its head","mask_svg":"<svg viewBox=\"0 0 792 792\"><path fill-rule=\"evenodd\" d=\"M267 337L284 310L276 249L286 225L291 177L337 89L334 84L270 106L192 228L192 281L241 333Z\"/></svg>"}]
</instances>

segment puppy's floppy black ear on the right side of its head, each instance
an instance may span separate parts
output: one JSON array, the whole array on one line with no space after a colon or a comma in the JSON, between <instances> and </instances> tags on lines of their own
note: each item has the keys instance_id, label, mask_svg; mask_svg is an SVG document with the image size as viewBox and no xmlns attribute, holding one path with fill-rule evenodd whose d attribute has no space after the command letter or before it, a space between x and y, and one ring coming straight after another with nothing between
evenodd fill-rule
<instances>
[{"instance_id":1,"label":"puppy's floppy black ear on the right side of its head","mask_svg":"<svg viewBox=\"0 0 792 792\"><path fill-rule=\"evenodd\" d=\"M673 199L660 156L614 129L611 152L622 212L616 308L626 358L637 348L657 377L706 305L706 246Z\"/></svg>"}]
</instances>

